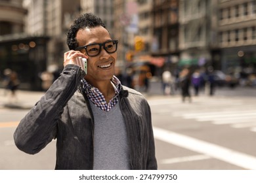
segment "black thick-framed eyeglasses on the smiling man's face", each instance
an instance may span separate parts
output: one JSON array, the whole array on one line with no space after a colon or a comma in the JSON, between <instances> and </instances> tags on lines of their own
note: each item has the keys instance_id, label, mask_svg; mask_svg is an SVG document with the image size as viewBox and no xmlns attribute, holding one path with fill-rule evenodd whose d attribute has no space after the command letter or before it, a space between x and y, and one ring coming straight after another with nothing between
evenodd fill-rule
<instances>
[{"instance_id":1,"label":"black thick-framed eyeglasses on the smiling man's face","mask_svg":"<svg viewBox=\"0 0 256 183\"><path fill-rule=\"evenodd\" d=\"M113 54L117 50L117 43L118 41L106 41L103 43L93 43L93 44L88 44L85 46L79 46L75 48L75 50L82 50L85 49L86 53L90 57L98 56L101 52L101 47L103 46L104 50L108 52L108 54Z\"/></svg>"}]
</instances>

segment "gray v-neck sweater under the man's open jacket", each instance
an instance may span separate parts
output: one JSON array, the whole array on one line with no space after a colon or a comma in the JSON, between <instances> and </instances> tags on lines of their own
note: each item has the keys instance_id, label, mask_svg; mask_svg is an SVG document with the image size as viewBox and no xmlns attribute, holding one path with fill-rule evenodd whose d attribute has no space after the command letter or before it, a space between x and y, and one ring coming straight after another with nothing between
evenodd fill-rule
<instances>
[{"instance_id":1,"label":"gray v-neck sweater under the man's open jacket","mask_svg":"<svg viewBox=\"0 0 256 183\"><path fill-rule=\"evenodd\" d=\"M127 129L119 102L106 112L90 101L95 118L94 163L95 170L131 169Z\"/></svg>"}]
</instances>

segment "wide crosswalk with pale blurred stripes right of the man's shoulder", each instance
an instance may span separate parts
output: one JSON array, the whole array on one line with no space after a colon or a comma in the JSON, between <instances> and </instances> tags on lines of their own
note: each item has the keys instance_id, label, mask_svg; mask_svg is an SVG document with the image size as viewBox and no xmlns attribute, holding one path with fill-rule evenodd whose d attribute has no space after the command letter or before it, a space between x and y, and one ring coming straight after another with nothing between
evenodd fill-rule
<instances>
[{"instance_id":1,"label":"wide crosswalk with pale blurred stripes right of the man's shoulder","mask_svg":"<svg viewBox=\"0 0 256 183\"><path fill-rule=\"evenodd\" d=\"M178 103L180 105L176 105ZM163 104L166 107L156 108L157 105ZM251 131L256 131L253 129L256 122L256 105L252 99L198 97L194 98L192 103L182 103L176 98L161 100L161 103L154 101L152 107L154 113L158 114L171 114L174 117L211 122L215 125L230 125L236 128L251 127Z\"/></svg>"}]
</instances>

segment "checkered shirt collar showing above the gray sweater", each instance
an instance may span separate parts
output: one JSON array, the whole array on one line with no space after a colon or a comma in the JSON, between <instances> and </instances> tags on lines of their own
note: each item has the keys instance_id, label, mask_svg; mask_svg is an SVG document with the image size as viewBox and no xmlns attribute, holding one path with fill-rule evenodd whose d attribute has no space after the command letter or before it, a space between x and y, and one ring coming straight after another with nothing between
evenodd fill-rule
<instances>
[{"instance_id":1,"label":"checkered shirt collar showing above the gray sweater","mask_svg":"<svg viewBox=\"0 0 256 183\"><path fill-rule=\"evenodd\" d=\"M95 88L87 82L84 78L81 80L83 87L82 92L85 92L89 100L96 105L96 107L100 108L101 110L104 110L106 112L110 111L118 102L118 95L121 90L121 82L116 76L113 76L111 79L111 82L114 84L114 90L115 95L110 100L109 103L106 102L106 99L104 98L103 94L98 90L98 88Z\"/></svg>"}]
</instances>

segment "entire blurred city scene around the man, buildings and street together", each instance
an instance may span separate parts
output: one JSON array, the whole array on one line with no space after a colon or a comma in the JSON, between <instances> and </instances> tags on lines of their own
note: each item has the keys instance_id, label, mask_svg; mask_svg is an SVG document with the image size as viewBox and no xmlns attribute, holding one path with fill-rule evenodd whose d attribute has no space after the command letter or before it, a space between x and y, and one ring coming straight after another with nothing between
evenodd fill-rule
<instances>
[{"instance_id":1,"label":"entire blurred city scene around the man, buildings and street together","mask_svg":"<svg viewBox=\"0 0 256 183\"><path fill-rule=\"evenodd\" d=\"M119 41L116 76L148 99L159 169L256 169L256 0L0 0L0 169L54 169L56 141L32 156L12 135L83 12Z\"/></svg>"}]
</instances>

